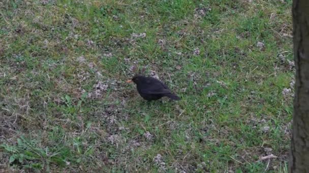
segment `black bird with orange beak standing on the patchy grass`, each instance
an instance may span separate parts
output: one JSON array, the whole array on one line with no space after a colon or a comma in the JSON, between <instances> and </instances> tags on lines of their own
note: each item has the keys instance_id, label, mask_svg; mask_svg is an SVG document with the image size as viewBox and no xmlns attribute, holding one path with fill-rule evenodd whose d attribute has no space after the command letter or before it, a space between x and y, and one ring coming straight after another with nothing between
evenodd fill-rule
<instances>
[{"instance_id":1,"label":"black bird with orange beak standing on the patchy grass","mask_svg":"<svg viewBox=\"0 0 309 173\"><path fill-rule=\"evenodd\" d=\"M158 100L164 96L171 100L180 100L178 96L171 93L166 84L156 78L136 75L127 83L132 81L136 84L139 95L145 100Z\"/></svg>"}]
</instances>

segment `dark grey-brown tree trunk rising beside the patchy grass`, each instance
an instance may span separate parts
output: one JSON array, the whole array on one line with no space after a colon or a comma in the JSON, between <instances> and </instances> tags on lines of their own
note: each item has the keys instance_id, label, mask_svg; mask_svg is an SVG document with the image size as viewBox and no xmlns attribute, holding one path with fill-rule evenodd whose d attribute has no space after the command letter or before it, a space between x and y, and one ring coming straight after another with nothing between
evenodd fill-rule
<instances>
[{"instance_id":1,"label":"dark grey-brown tree trunk rising beside the patchy grass","mask_svg":"<svg viewBox=\"0 0 309 173\"><path fill-rule=\"evenodd\" d=\"M295 98L289 172L309 172L309 0L293 0Z\"/></svg>"}]
</instances>

